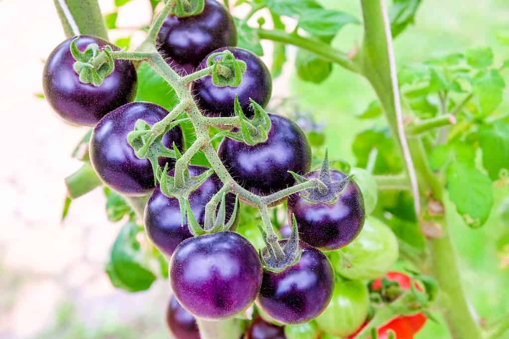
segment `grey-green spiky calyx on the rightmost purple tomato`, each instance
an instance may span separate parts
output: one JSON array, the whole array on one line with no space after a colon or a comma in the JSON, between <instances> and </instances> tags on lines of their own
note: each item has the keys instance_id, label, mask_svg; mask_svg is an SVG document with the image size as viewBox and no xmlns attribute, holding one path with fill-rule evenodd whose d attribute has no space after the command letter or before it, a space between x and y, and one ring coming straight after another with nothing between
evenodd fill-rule
<instances>
[{"instance_id":1,"label":"grey-green spiky calyx on the rightmost purple tomato","mask_svg":"<svg viewBox=\"0 0 509 339\"><path fill-rule=\"evenodd\" d=\"M290 172L297 183L302 183L308 179L300 174ZM299 193L300 197L310 204L327 203L333 204L341 196L343 190L352 181L353 176L347 175L341 181L332 181L330 175L329 157L327 150L325 151L325 158L322 162L322 169L318 176L317 184L312 188L304 190Z\"/></svg>"}]
</instances>

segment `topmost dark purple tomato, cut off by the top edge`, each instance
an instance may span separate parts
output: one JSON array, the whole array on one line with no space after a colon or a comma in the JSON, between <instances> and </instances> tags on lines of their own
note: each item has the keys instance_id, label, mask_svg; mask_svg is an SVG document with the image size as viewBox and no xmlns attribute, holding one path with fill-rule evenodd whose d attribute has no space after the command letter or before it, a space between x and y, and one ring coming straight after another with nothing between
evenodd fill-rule
<instances>
[{"instance_id":1,"label":"topmost dark purple tomato, cut off by the top edge","mask_svg":"<svg viewBox=\"0 0 509 339\"><path fill-rule=\"evenodd\" d=\"M216 0L206 0L203 12L179 18L168 15L157 36L158 50L180 74L193 72L213 50L237 45L237 29L230 12Z\"/></svg>"}]
</instances>

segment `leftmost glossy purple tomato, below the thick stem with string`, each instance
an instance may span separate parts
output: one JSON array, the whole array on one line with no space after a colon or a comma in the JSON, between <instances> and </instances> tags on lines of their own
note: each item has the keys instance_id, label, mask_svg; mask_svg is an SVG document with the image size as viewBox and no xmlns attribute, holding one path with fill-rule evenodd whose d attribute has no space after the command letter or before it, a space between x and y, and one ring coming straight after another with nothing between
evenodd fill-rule
<instances>
[{"instance_id":1,"label":"leftmost glossy purple tomato, below the thick stem with string","mask_svg":"<svg viewBox=\"0 0 509 339\"><path fill-rule=\"evenodd\" d=\"M72 37L56 46L46 60L43 71L44 96L55 112L75 125L94 126L108 112L134 100L137 76L128 60L115 60L115 70L100 86L79 81L71 55ZM76 42L80 51L96 43L102 49L119 48L97 37L82 35Z\"/></svg>"}]
</instances>

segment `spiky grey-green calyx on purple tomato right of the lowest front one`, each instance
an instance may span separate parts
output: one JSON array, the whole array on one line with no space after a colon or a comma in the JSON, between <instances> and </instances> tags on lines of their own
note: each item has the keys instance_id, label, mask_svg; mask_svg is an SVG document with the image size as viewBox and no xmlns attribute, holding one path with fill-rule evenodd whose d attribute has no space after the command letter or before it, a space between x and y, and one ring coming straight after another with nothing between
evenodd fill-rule
<instances>
[{"instance_id":1,"label":"spiky grey-green calyx on purple tomato right of the lowest front one","mask_svg":"<svg viewBox=\"0 0 509 339\"><path fill-rule=\"evenodd\" d=\"M286 243L282 248L284 253L284 257L282 258L277 258L272 245L267 240L267 232L263 229L263 227L258 225L266 245L266 249L264 251L260 250L259 252L260 260L262 261L262 267L264 270L279 273L299 262L300 256L304 250L302 250L299 246L299 231L297 228L295 215L292 215L292 218L292 234L290 235L290 238L286 240Z\"/></svg>"}]
</instances>

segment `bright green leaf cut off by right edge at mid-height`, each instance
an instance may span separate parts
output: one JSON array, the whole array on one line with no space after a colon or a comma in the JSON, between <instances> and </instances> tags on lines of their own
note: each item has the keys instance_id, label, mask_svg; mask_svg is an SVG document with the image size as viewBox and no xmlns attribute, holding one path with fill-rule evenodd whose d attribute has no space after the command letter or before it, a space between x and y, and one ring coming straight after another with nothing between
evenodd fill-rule
<instances>
[{"instance_id":1,"label":"bright green leaf cut off by right edge at mid-height","mask_svg":"<svg viewBox=\"0 0 509 339\"><path fill-rule=\"evenodd\" d=\"M497 180L502 169L509 169L509 124L496 121L492 125L483 125L478 134L483 150L483 166L490 178Z\"/></svg>"}]
</instances>

